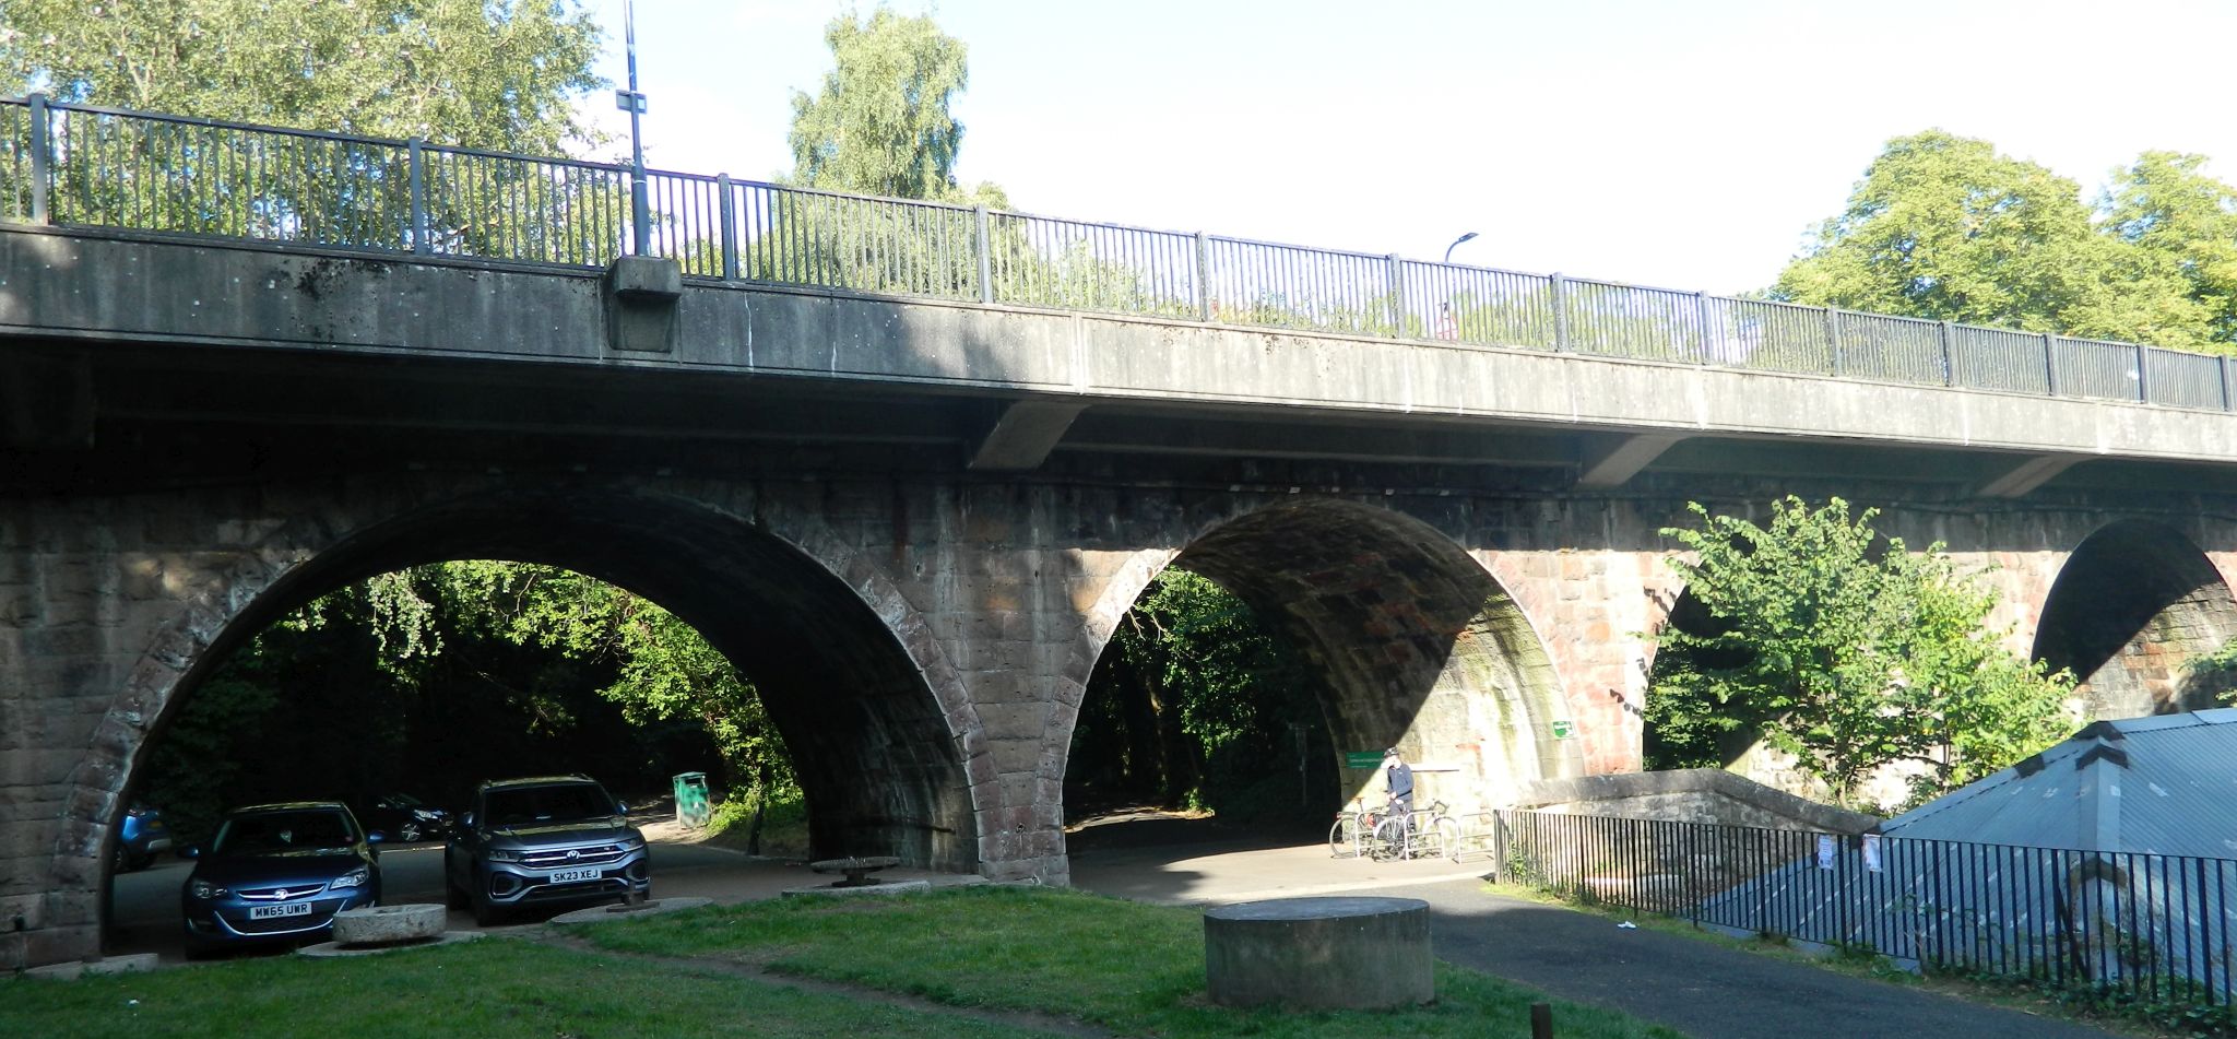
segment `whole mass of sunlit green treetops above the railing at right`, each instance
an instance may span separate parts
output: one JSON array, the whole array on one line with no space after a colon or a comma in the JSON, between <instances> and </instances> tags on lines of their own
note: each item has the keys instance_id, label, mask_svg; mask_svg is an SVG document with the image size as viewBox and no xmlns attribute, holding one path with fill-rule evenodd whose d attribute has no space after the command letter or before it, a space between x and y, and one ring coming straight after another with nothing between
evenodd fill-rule
<instances>
[{"instance_id":1,"label":"whole mass of sunlit green treetops above the railing at right","mask_svg":"<svg viewBox=\"0 0 2237 1039\"><path fill-rule=\"evenodd\" d=\"M1944 130L1897 137L1781 271L1781 300L2161 347L2237 347L2233 190L2150 152L2080 186Z\"/></svg>"}]
</instances>

